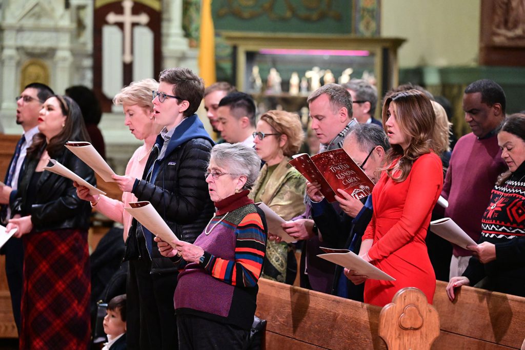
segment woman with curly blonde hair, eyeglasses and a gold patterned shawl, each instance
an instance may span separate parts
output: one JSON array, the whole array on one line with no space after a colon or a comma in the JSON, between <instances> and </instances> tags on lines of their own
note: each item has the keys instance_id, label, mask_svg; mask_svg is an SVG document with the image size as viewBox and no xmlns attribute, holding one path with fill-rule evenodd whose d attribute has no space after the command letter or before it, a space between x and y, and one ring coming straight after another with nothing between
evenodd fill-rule
<instances>
[{"instance_id":1,"label":"woman with curly blonde hair, eyeglasses and a gold patterned shawl","mask_svg":"<svg viewBox=\"0 0 525 350\"><path fill-rule=\"evenodd\" d=\"M268 111L261 115L254 137L255 151L265 165L250 197L256 202L262 201L285 220L300 215L304 211L306 180L288 164L304 138L299 116L286 111ZM293 283L295 274L287 276L287 258L292 249L286 242L269 240L262 277Z\"/></svg>"}]
</instances>

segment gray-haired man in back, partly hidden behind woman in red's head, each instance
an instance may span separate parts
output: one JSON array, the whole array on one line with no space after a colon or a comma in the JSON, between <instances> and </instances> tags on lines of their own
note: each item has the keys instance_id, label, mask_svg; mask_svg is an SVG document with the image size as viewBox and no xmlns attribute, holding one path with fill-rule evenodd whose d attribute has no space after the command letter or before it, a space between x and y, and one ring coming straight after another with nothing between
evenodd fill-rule
<instances>
[{"instance_id":1,"label":"gray-haired man in back, partly hidden behind woman in red's head","mask_svg":"<svg viewBox=\"0 0 525 350\"><path fill-rule=\"evenodd\" d=\"M343 87L352 96L353 117L360 123L377 124L383 127L380 120L374 118L377 104L377 89L364 79L352 79Z\"/></svg>"}]
</instances>

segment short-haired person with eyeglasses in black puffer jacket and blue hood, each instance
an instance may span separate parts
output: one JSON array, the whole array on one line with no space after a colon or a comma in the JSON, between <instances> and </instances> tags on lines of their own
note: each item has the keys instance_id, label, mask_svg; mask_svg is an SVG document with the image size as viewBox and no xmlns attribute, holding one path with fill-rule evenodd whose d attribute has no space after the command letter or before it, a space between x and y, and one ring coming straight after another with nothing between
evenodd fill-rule
<instances>
[{"instance_id":1,"label":"short-haired person with eyeglasses in black puffer jacket and blue hood","mask_svg":"<svg viewBox=\"0 0 525 350\"><path fill-rule=\"evenodd\" d=\"M187 68L160 73L152 92L155 122L163 125L142 179L113 176L123 191L149 201L181 240L193 243L213 217L204 172L214 142L195 111L204 82ZM173 295L178 270L163 257L152 233L133 220L126 245L128 349L176 349Z\"/></svg>"}]
</instances>

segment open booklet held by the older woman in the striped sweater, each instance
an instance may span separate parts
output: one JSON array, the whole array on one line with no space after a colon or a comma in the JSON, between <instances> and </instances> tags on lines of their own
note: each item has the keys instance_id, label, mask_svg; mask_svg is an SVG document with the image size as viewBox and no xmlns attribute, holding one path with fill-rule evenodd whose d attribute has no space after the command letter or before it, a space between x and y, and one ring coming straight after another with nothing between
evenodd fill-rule
<instances>
[{"instance_id":1,"label":"open booklet held by the older woman in the striped sweater","mask_svg":"<svg viewBox=\"0 0 525 350\"><path fill-rule=\"evenodd\" d=\"M131 208L124 208L132 217L137 219L142 226L152 232L153 235L160 237L164 242L170 243L175 248L173 240L178 241L177 236L171 228L167 226L164 219L157 213L149 201L133 201Z\"/></svg>"}]
</instances>

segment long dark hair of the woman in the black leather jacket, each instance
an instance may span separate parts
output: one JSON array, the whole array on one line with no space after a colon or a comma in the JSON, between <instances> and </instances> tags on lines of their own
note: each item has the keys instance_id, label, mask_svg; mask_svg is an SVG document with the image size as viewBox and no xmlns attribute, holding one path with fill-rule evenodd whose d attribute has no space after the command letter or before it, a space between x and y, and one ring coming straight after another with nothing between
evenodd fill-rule
<instances>
[{"instance_id":1,"label":"long dark hair of the woman in the black leather jacket","mask_svg":"<svg viewBox=\"0 0 525 350\"><path fill-rule=\"evenodd\" d=\"M66 116L64 128L49 140L49 144L46 144L46 136L43 133L38 133L33 136L33 144L27 149L28 157L40 156L39 152L45 144L49 156L55 158L66 150L64 144L68 141L91 142L88 131L86 130L86 124L82 118L82 112L80 112L80 107L78 107L77 102L67 96L54 95L51 96L50 99L51 98L58 100L62 115Z\"/></svg>"}]
</instances>

